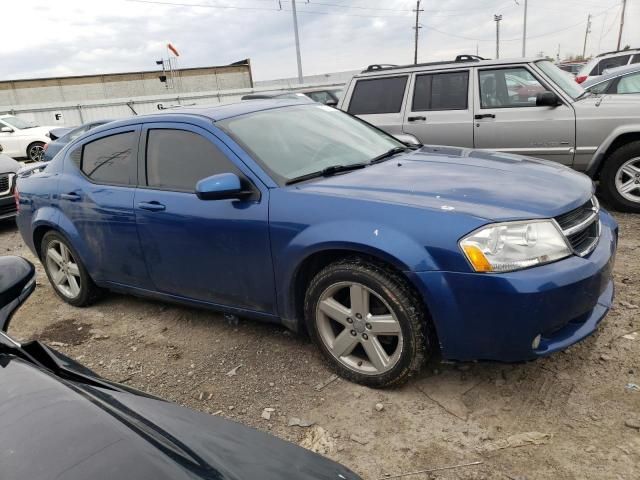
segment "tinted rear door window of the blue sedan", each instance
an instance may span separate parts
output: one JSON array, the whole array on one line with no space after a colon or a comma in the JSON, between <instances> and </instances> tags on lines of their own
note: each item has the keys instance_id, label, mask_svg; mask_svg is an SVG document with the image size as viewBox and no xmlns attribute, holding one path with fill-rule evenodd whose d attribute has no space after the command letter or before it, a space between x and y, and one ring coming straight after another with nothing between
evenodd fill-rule
<instances>
[{"instance_id":1,"label":"tinted rear door window of the blue sedan","mask_svg":"<svg viewBox=\"0 0 640 480\"><path fill-rule=\"evenodd\" d=\"M99 138L82 149L81 169L96 183L135 185L137 132Z\"/></svg>"}]
</instances>

